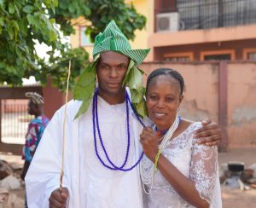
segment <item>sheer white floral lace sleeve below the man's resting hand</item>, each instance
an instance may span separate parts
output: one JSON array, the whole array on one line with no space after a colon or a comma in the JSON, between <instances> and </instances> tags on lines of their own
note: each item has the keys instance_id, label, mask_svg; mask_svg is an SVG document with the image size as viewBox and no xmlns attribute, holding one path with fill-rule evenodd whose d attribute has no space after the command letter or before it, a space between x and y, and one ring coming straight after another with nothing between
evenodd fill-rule
<instances>
[{"instance_id":1,"label":"sheer white floral lace sleeve below the man's resting hand","mask_svg":"<svg viewBox=\"0 0 256 208\"><path fill-rule=\"evenodd\" d=\"M218 171L217 147L207 147L194 142L190 165L190 178L195 182L195 188L201 199L212 201L212 194Z\"/></svg>"}]
</instances>

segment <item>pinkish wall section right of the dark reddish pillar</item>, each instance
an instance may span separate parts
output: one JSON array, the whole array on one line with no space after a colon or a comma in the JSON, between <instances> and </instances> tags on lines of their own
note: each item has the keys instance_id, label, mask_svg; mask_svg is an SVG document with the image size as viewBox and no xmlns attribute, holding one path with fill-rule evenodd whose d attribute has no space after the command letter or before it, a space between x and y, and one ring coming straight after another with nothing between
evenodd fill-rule
<instances>
[{"instance_id":1,"label":"pinkish wall section right of the dark reddish pillar","mask_svg":"<svg viewBox=\"0 0 256 208\"><path fill-rule=\"evenodd\" d=\"M256 146L256 64L228 65L228 135L232 147Z\"/></svg>"}]
</instances>

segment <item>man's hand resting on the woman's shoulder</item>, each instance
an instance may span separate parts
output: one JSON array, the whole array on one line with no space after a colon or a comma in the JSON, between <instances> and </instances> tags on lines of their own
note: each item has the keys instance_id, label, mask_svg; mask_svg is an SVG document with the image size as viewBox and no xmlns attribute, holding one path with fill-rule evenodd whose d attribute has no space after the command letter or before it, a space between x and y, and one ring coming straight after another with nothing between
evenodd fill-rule
<instances>
[{"instance_id":1,"label":"man's hand resting on the woman's shoulder","mask_svg":"<svg viewBox=\"0 0 256 208\"><path fill-rule=\"evenodd\" d=\"M195 130L195 138L198 138L199 144L205 144L207 146L218 145L221 142L221 131L218 128L218 124L212 123L210 118L205 118L201 124L201 129Z\"/></svg>"}]
</instances>

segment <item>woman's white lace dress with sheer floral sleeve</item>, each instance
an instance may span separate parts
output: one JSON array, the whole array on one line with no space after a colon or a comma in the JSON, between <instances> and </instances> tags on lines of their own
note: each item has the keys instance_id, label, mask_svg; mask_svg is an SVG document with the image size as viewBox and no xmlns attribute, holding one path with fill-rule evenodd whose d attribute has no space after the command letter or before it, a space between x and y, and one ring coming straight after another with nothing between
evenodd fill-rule
<instances>
[{"instance_id":1,"label":"woman's white lace dress with sheer floral sleeve","mask_svg":"<svg viewBox=\"0 0 256 208\"><path fill-rule=\"evenodd\" d=\"M201 127L197 122L189 125L180 135L168 142L162 154L175 165L184 176L195 182L195 188L211 208L221 208L221 192L218 177L217 147L198 145L193 138L195 130ZM143 157L148 165L153 163ZM148 190L150 186L147 186ZM149 208L194 207L181 198L158 170L154 174L151 194L148 195Z\"/></svg>"}]
</instances>

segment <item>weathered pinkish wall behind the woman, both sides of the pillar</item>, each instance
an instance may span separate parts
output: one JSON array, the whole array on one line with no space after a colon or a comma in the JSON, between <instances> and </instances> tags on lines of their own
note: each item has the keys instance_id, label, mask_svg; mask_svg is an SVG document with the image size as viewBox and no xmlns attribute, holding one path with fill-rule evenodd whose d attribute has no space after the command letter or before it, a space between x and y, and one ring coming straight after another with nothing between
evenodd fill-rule
<instances>
[{"instance_id":1,"label":"weathered pinkish wall behind the woman, both sides of the pillar","mask_svg":"<svg viewBox=\"0 0 256 208\"><path fill-rule=\"evenodd\" d=\"M158 67L171 67L183 75L184 99L180 114L189 119L219 118L218 62L148 62L140 66L146 75ZM226 126L228 147L256 147L256 62L228 62ZM222 89L220 89L222 90ZM224 89L223 89L224 90ZM221 123L221 122L220 122Z\"/></svg>"}]
</instances>

